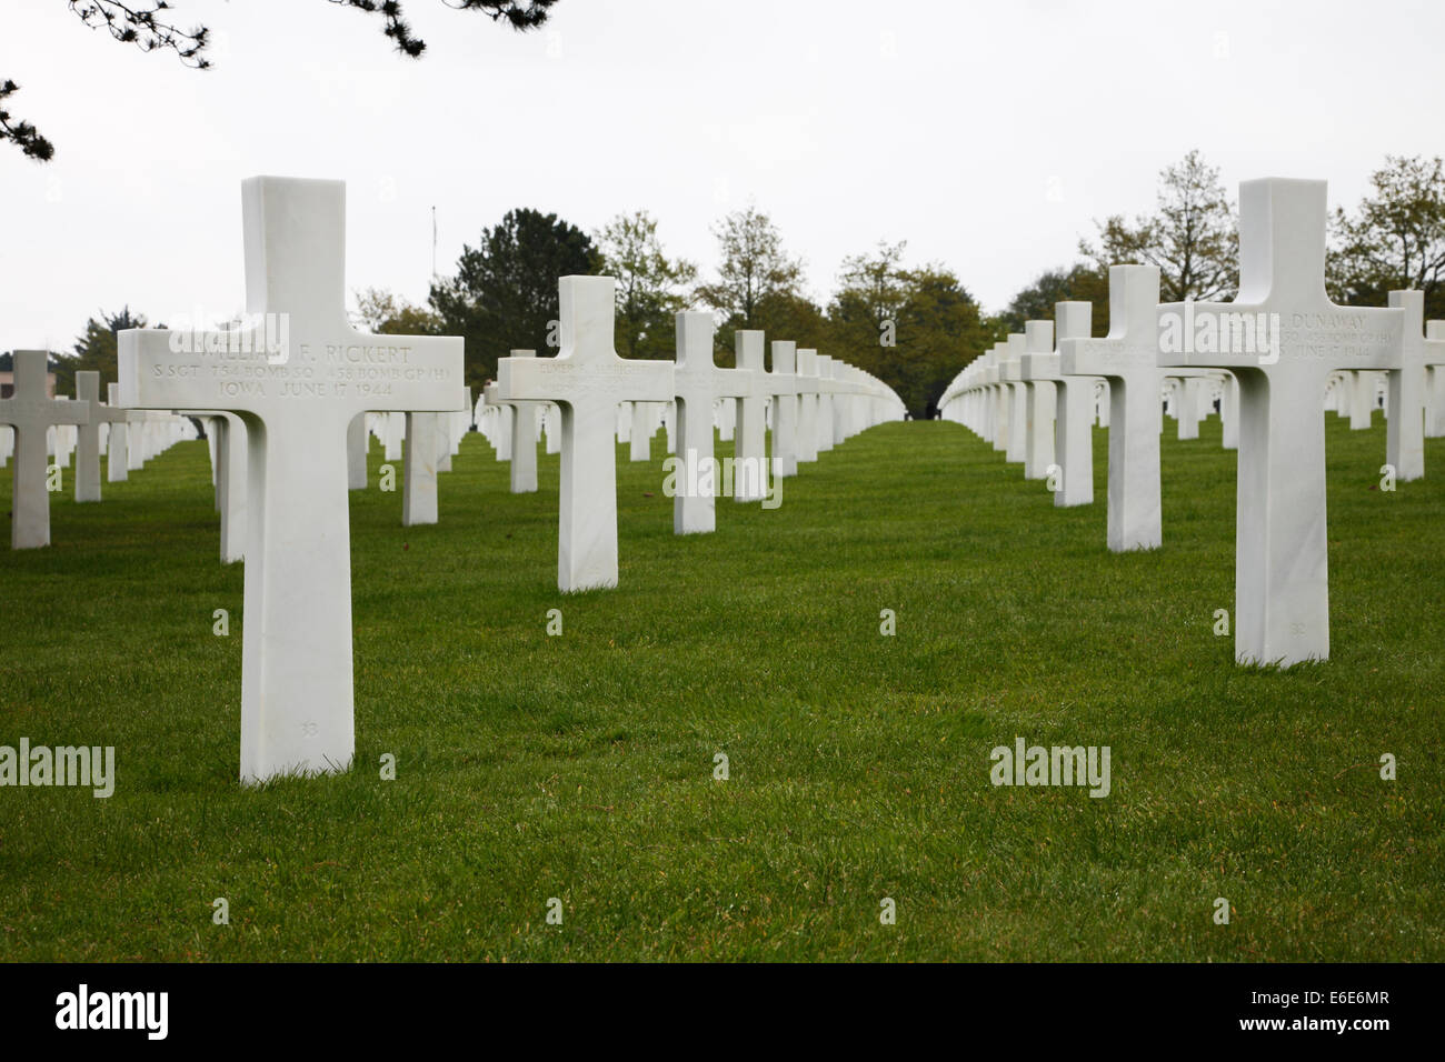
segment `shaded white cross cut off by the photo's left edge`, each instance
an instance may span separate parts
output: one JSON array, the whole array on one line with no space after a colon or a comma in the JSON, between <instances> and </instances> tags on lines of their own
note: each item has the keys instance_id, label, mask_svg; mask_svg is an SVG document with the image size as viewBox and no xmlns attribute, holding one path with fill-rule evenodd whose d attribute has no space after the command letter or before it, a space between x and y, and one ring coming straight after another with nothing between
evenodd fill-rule
<instances>
[{"instance_id":1,"label":"shaded white cross cut off by the photo's left edge","mask_svg":"<svg viewBox=\"0 0 1445 1062\"><path fill-rule=\"evenodd\" d=\"M90 422L88 402L48 396L48 355L43 350L14 353L14 393L0 399L0 423L14 429L14 470L10 484L10 546L51 545L51 493L46 490L45 438L53 425Z\"/></svg>"}]
</instances>

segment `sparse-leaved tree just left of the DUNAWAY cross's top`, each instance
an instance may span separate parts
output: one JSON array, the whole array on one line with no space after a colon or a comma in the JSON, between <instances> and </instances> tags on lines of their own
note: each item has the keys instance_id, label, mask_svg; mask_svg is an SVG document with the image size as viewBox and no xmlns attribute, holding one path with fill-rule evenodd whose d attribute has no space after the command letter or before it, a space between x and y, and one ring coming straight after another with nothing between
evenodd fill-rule
<instances>
[{"instance_id":1,"label":"sparse-leaved tree just left of the DUNAWAY cross's top","mask_svg":"<svg viewBox=\"0 0 1445 1062\"><path fill-rule=\"evenodd\" d=\"M1120 214L1095 224L1098 246L1081 240L1079 253L1105 275L1118 264L1159 266L1160 302L1230 299L1238 288L1235 210L1220 170L1196 150L1159 172L1153 214L1133 225Z\"/></svg>"}]
</instances>

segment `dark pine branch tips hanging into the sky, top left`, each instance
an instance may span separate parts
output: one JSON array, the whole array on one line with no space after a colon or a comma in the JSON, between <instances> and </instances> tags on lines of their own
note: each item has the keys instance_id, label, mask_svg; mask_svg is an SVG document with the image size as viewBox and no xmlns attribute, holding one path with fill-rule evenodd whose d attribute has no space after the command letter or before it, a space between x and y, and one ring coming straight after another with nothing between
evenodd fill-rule
<instances>
[{"instance_id":1,"label":"dark pine branch tips hanging into the sky, top left","mask_svg":"<svg viewBox=\"0 0 1445 1062\"><path fill-rule=\"evenodd\" d=\"M134 45L142 52L175 52L176 58L194 69L210 69L207 48L211 43L208 26L181 29L171 20L175 0L68 0L71 10L91 29L103 29L116 40ZM396 51L412 59L420 58L426 42L412 33L402 0L328 0L338 7L350 7L381 19L381 32ZM481 12L493 22L506 22L514 30L529 30L546 22L556 0L444 0L458 12ZM40 136L29 121L12 117L4 108L6 98L20 91L10 79L0 81L0 142L9 140L20 153L36 162L49 162L55 144Z\"/></svg>"}]
</instances>

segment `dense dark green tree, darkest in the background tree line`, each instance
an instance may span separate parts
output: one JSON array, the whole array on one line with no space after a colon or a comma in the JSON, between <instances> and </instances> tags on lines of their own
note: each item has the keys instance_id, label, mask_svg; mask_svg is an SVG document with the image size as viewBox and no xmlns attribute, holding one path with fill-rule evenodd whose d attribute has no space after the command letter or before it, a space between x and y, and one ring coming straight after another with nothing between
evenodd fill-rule
<instances>
[{"instance_id":1,"label":"dense dark green tree, darkest in the background tree line","mask_svg":"<svg viewBox=\"0 0 1445 1062\"><path fill-rule=\"evenodd\" d=\"M513 348L546 354L558 279L600 267L587 233L526 208L483 230L477 247L464 246L457 275L434 283L429 302L441 334L467 340L467 383L494 379L497 358Z\"/></svg>"}]
</instances>

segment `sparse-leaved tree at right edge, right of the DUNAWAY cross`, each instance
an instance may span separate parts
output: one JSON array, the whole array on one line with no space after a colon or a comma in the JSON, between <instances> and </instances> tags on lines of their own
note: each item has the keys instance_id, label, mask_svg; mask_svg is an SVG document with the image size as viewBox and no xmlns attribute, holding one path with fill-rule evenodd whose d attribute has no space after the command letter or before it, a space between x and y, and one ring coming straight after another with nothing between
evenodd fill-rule
<instances>
[{"instance_id":1,"label":"sparse-leaved tree at right edge, right of the DUNAWAY cross","mask_svg":"<svg viewBox=\"0 0 1445 1062\"><path fill-rule=\"evenodd\" d=\"M1354 214L1335 210L1327 266L1337 302L1384 305L1396 289L1425 293L1445 318L1445 169L1441 159L1387 155Z\"/></svg>"}]
</instances>

